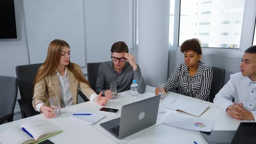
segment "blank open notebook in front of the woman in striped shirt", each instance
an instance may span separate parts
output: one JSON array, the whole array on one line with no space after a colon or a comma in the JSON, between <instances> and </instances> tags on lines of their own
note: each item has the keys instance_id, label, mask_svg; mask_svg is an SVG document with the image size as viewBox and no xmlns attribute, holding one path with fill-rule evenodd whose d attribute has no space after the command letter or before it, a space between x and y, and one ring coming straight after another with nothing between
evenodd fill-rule
<instances>
[{"instance_id":1,"label":"blank open notebook in front of the woman in striped shirt","mask_svg":"<svg viewBox=\"0 0 256 144\"><path fill-rule=\"evenodd\" d=\"M174 100L176 99L176 100ZM209 105L202 104L198 101L187 100L182 97L166 97L160 102L160 106L164 108L169 108L174 111L184 111L190 115L200 117L209 108Z\"/></svg>"}]
</instances>

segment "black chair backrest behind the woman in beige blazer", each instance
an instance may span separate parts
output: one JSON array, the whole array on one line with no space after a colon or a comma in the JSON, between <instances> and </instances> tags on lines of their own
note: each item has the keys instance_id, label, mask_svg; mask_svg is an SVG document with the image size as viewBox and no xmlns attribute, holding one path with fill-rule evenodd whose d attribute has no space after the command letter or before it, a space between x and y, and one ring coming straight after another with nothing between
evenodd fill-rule
<instances>
[{"instance_id":1,"label":"black chair backrest behind the woman in beige blazer","mask_svg":"<svg viewBox=\"0 0 256 144\"><path fill-rule=\"evenodd\" d=\"M32 98L34 94L34 80L36 77L36 73L41 65L42 63L16 66L16 76L21 97L21 101L19 101L19 104L21 112L24 112L26 114L26 116L24 116L25 118L36 115L38 113L33 108Z\"/></svg>"}]
</instances>

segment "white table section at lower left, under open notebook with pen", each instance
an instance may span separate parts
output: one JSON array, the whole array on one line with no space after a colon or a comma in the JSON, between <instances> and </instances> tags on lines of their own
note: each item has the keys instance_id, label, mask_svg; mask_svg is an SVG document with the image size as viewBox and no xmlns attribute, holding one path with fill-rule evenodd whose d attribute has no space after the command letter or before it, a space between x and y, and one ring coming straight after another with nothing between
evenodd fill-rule
<instances>
[{"instance_id":1,"label":"white table section at lower left, under open notebook with pen","mask_svg":"<svg viewBox=\"0 0 256 144\"><path fill-rule=\"evenodd\" d=\"M63 130L61 133L48 138L50 141L53 141L54 144L117 144L111 138L105 136L92 126L88 124L80 124L77 121L70 119L69 116L71 113L69 111L66 111L64 108L61 110L62 115L56 118L45 118L43 114L40 114L7 124L1 124L0 132L12 127L20 127L20 125L26 121L43 119L50 121ZM10 136L10 138L15 138L15 136Z\"/></svg>"}]
</instances>

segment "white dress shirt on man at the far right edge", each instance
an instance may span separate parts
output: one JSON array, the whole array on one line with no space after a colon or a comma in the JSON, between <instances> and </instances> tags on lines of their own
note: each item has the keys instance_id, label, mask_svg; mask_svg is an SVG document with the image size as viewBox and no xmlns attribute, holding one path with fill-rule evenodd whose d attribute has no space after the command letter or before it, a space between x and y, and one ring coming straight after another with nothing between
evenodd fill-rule
<instances>
[{"instance_id":1,"label":"white dress shirt on man at the far right edge","mask_svg":"<svg viewBox=\"0 0 256 144\"><path fill-rule=\"evenodd\" d=\"M256 120L256 82L253 82L248 76L243 76L241 72L230 75L230 80L217 93L213 102L221 109L233 105L234 102L243 103L243 107L253 113Z\"/></svg>"}]
</instances>

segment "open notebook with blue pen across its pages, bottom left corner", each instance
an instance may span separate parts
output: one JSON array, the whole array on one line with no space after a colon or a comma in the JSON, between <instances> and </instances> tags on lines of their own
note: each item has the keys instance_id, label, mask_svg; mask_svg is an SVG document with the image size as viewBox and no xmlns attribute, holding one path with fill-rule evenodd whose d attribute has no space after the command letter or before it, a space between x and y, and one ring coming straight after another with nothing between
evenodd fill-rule
<instances>
[{"instance_id":1,"label":"open notebook with blue pen across its pages, bottom left corner","mask_svg":"<svg viewBox=\"0 0 256 144\"><path fill-rule=\"evenodd\" d=\"M0 144L32 144L62 132L46 120L27 121L0 133Z\"/></svg>"}]
</instances>

